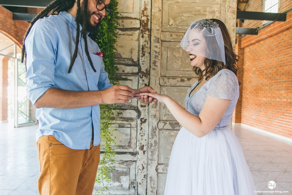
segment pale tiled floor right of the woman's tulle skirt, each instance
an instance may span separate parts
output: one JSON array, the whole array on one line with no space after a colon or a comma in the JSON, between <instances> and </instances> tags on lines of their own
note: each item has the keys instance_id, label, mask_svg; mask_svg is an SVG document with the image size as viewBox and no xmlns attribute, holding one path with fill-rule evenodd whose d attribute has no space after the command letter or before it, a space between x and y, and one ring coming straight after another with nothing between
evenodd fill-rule
<instances>
[{"instance_id":1,"label":"pale tiled floor right of the woman's tulle skirt","mask_svg":"<svg viewBox=\"0 0 292 195\"><path fill-rule=\"evenodd\" d=\"M239 125L235 125L234 132L241 143L256 190L271 191L267 183L274 181L276 187L272 190L282 191L258 194L292 195L292 142Z\"/></svg>"}]
</instances>

